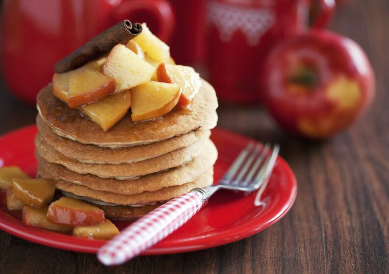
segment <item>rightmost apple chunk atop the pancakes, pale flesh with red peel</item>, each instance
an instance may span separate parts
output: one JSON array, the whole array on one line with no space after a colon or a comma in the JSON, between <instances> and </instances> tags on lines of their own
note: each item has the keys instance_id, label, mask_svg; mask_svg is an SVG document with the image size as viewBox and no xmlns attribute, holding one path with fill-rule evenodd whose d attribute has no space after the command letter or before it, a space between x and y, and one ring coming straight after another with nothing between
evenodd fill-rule
<instances>
[{"instance_id":1,"label":"rightmost apple chunk atop the pancakes, pale flesh with red peel","mask_svg":"<svg viewBox=\"0 0 389 274\"><path fill-rule=\"evenodd\" d=\"M159 82L181 85L181 107L187 107L201 87L200 75L192 67L161 63L156 75Z\"/></svg>"}]
</instances>

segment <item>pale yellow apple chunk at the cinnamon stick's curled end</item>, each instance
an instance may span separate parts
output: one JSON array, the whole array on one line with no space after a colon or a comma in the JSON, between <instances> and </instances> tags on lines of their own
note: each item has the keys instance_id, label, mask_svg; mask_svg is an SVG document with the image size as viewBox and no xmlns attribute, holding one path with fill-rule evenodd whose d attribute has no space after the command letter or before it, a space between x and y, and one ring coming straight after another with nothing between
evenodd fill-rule
<instances>
[{"instance_id":1,"label":"pale yellow apple chunk at the cinnamon stick's curled end","mask_svg":"<svg viewBox=\"0 0 389 274\"><path fill-rule=\"evenodd\" d=\"M146 26L146 23L142 24L142 33L133 38L132 41L157 62L167 62L170 58L169 46L156 37Z\"/></svg>"}]
</instances>

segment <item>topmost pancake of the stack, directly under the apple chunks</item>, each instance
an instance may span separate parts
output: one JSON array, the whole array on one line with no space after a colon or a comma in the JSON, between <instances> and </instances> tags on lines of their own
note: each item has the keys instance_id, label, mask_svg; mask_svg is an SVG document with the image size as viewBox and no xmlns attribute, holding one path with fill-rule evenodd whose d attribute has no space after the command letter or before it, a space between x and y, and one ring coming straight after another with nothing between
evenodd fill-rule
<instances>
[{"instance_id":1,"label":"topmost pancake of the stack, directly under the apple chunks","mask_svg":"<svg viewBox=\"0 0 389 274\"><path fill-rule=\"evenodd\" d=\"M37 96L41 117L57 135L110 148L148 144L189 133L205 125L217 107L215 90L202 80L190 111L176 107L160 119L139 123L132 123L128 114L112 129L103 132L99 125L82 117L77 109L71 109L57 99L52 94L51 84Z\"/></svg>"}]
</instances>

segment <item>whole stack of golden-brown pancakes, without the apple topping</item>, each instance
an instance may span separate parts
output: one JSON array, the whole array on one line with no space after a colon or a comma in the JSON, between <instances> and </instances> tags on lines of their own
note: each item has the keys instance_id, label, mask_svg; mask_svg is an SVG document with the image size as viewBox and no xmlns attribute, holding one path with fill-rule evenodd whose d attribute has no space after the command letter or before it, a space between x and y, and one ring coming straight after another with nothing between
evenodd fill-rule
<instances>
[{"instance_id":1,"label":"whole stack of golden-brown pancakes, without the apple topping","mask_svg":"<svg viewBox=\"0 0 389 274\"><path fill-rule=\"evenodd\" d=\"M205 81L190 110L138 123L128 114L107 132L54 97L51 85L39 92L37 108L38 176L58 180L62 194L104 209L107 218L139 218L213 182L217 99Z\"/></svg>"}]
</instances>

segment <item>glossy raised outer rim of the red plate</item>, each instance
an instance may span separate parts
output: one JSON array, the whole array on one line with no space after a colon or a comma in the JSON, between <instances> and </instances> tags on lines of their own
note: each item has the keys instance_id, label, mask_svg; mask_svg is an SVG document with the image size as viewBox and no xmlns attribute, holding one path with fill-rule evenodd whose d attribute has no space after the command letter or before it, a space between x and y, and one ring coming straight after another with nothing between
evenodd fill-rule
<instances>
[{"instance_id":1,"label":"glossy raised outer rim of the red plate","mask_svg":"<svg viewBox=\"0 0 389 274\"><path fill-rule=\"evenodd\" d=\"M36 126L28 126L3 135L0 137L0 142L4 141L6 138L13 139L13 137L22 133L28 135L28 133L35 134L34 132L36 132ZM212 134L226 135L226 137L233 137L244 142L251 140L248 137L221 129L214 129ZM278 157L277 164L281 165L281 168L287 177L288 186L284 190L285 193L282 193L282 196L285 198L283 198L282 201L279 201L277 207L270 213L267 213L265 216L260 216L260 218L250 219L246 222L240 223L239 225L226 229L218 233L217 237L197 236L191 239L176 239L174 242L169 241L169 238L167 238L142 253L142 255L188 252L221 246L252 236L274 224L289 211L297 195L297 182L292 170L281 157ZM105 241L102 240L81 239L40 228L26 227L20 220L9 215L2 209L0 209L0 229L16 237L37 244L86 253L96 253L98 248L105 243Z\"/></svg>"}]
</instances>

